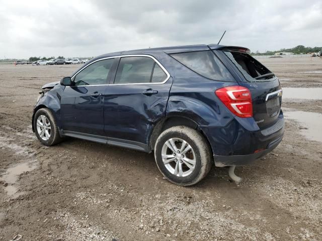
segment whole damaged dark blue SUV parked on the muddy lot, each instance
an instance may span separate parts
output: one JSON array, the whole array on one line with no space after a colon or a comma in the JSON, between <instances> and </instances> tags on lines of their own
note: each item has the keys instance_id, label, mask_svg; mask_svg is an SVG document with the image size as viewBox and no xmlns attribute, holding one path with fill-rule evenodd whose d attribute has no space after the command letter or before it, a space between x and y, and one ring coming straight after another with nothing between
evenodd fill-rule
<instances>
[{"instance_id":1,"label":"whole damaged dark blue SUV parked on the muddy lot","mask_svg":"<svg viewBox=\"0 0 322 241\"><path fill-rule=\"evenodd\" d=\"M101 55L44 85L32 128L47 146L75 137L150 153L171 182L212 163L240 166L282 141L278 78L249 49L193 45Z\"/></svg>"}]
</instances>

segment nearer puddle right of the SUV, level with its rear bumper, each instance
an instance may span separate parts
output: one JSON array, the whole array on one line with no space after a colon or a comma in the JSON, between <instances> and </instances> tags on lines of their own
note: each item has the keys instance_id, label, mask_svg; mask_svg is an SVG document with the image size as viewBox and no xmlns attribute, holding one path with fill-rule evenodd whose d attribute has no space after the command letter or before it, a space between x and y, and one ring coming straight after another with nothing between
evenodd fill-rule
<instances>
[{"instance_id":1,"label":"nearer puddle right of the SUV, level with its rear bumper","mask_svg":"<svg viewBox=\"0 0 322 241\"><path fill-rule=\"evenodd\" d=\"M303 128L301 134L307 139L322 142L322 114L306 111L284 111L286 119L294 119Z\"/></svg>"}]
</instances>

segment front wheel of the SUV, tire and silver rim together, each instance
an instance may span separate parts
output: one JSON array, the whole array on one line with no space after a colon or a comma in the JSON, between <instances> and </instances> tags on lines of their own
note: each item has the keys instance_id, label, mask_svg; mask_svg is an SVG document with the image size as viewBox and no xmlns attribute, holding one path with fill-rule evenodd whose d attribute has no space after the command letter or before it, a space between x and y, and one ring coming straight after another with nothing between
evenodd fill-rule
<instances>
[{"instance_id":1,"label":"front wheel of the SUV, tire and silver rim together","mask_svg":"<svg viewBox=\"0 0 322 241\"><path fill-rule=\"evenodd\" d=\"M44 128L41 125L37 126L38 118L40 121L39 124L43 125L43 123L46 123L45 131L43 132L43 135L41 134L41 130L43 130ZM36 137L41 142L41 144L45 146L53 146L61 142L62 138L59 135L55 118L49 109L41 108L37 110L34 117L34 127L35 127ZM47 129L47 133L46 133L46 129ZM47 134L49 134L49 136Z\"/></svg>"}]
</instances>

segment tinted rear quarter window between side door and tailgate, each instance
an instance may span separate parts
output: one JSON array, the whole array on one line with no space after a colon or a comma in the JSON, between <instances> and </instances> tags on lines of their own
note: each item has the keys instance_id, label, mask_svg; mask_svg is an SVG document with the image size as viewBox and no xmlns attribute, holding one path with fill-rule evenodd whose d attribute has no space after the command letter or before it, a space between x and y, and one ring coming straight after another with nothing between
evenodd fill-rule
<instances>
[{"instance_id":1,"label":"tinted rear quarter window between side door and tailgate","mask_svg":"<svg viewBox=\"0 0 322 241\"><path fill-rule=\"evenodd\" d=\"M180 63L206 78L234 82L234 78L212 51L171 54Z\"/></svg>"}]
</instances>

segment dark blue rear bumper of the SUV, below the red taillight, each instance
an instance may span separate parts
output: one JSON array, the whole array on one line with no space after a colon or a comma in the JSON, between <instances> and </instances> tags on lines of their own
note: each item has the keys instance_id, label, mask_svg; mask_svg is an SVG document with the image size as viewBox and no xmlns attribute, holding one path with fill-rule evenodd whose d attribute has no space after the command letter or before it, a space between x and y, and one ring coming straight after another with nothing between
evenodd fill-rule
<instances>
[{"instance_id":1,"label":"dark blue rear bumper of the SUV, below the red taillight","mask_svg":"<svg viewBox=\"0 0 322 241\"><path fill-rule=\"evenodd\" d=\"M238 117L226 127L202 130L209 140L217 167L244 166L278 146L284 136L284 116L280 111L276 123L264 130L258 128L253 118Z\"/></svg>"}]
</instances>

